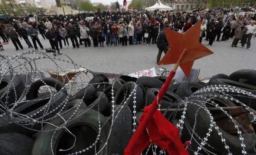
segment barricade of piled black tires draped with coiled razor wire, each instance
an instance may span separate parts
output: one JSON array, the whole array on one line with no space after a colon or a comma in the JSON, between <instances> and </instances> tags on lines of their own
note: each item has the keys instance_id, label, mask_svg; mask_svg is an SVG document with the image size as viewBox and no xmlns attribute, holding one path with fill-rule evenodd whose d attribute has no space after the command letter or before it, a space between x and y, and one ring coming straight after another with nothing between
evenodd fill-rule
<instances>
[{"instance_id":1,"label":"barricade of piled black tires draped with coiled razor wire","mask_svg":"<svg viewBox=\"0 0 256 155\"><path fill-rule=\"evenodd\" d=\"M207 107L245 105L255 109L255 78L256 71L243 69L229 76L212 76L208 83L173 84L159 108L166 110L164 115L170 122L178 124L182 141L192 142L191 154L241 154L241 150L254 153L255 133L229 134L214 124ZM26 87L18 76L3 76L0 154L122 155L140 123L142 109L152 104L166 79L120 76L110 81L98 74L86 87L70 95L66 85L57 79L42 78ZM40 94L41 86L54 91ZM168 112L177 108L185 109L185 117Z\"/></svg>"}]
</instances>

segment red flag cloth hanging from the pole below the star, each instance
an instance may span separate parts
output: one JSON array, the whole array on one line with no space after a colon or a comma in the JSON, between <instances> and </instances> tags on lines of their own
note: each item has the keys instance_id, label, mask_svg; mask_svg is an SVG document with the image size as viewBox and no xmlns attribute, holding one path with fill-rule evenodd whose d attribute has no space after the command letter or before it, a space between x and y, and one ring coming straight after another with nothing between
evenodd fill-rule
<instances>
[{"instance_id":1,"label":"red flag cloth hanging from the pole below the star","mask_svg":"<svg viewBox=\"0 0 256 155\"><path fill-rule=\"evenodd\" d=\"M144 108L145 113L141 117L141 122L133 137L130 139L124 155L139 155L149 146L150 140L171 155L188 155L181 143L178 129L157 110L174 75L175 71L170 72L153 103Z\"/></svg>"}]
</instances>

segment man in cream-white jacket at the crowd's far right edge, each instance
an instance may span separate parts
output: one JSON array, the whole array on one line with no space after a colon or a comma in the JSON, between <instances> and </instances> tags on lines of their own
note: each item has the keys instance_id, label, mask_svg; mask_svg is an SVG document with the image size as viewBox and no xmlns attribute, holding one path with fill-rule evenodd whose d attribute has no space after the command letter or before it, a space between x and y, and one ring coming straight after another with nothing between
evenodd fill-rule
<instances>
[{"instance_id":1,"label":"man in cream-white jacket at the crowd's far right edge","mask_svg":"<svg viewBox=\"0 0 256 155\"><path fill-rule=\"evenodd\" d=\"M251 21L251 24L246 26L247 31L246 31L246 35L244 36L243 41L241 43L241 48L244 47L245 43L247 43L246 48L248 50L251 50L251 37L256 34L255 22L256 21Z\"/></svg>"}]
</instances>

